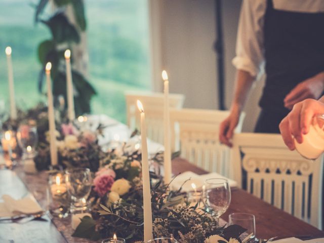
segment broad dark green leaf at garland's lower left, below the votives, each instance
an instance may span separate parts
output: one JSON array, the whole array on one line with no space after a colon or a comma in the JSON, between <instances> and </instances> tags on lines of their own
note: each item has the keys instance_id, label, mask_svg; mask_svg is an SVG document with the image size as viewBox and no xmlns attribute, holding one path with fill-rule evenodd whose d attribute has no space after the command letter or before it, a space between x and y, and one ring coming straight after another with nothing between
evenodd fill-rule
<instances>
[{"instance_id":1,"label":"broad dark green leaf at garland's lower left, below the votives","mask_svg":"<svg viewBox=\"0 0 324 243\"><path fill-rule=\"evenodd\" d=\"M100 234L96 231L96 221L85 216L81 219L81 223L76 227L73 237L86 238L91 240L99 240Z\"/></svg>"}]
</instances>

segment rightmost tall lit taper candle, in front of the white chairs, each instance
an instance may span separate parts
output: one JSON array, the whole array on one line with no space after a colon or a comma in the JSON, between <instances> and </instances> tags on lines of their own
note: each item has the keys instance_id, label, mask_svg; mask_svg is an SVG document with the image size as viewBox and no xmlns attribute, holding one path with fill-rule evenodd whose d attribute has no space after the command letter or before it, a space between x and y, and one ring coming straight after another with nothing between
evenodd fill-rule
<instances>
[{"instance_id":1,"label":"rightmost tall lit taper candle, in front of the white chairs","mask_svg":"<svg viewBox=\"0 0 324 243\"><path fill-rule=\"evenodd\" d=\"M169 111L169 80L165 70L162 72L164 80L164 182L171 182L171 144L170 144L170 111Z\"/></svg>"}]
</instances>

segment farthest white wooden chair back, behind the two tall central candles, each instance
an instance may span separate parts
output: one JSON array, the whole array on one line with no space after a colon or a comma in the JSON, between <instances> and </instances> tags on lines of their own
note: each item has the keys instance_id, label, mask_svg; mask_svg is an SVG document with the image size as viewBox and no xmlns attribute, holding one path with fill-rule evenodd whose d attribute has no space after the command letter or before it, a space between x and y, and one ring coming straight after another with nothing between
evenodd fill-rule
<instances>
[{"instance_id":1,"label":"farthest white wooden chair back, behind the two tall central candles","mask_svg":"<svg viewBox=\"0 0 324 243\"><path fill-rule=\"evenodd\" d=\"M164 116L164 94L153 92L128 91L125 92L127 106L127 125L131 131L140 128L140 112L136 101L140 100L144 106L147 137L163 144L163 116ZM183 106L184 95L169 94L171 108L180 109Z\"/></svg>"}]
</instances>

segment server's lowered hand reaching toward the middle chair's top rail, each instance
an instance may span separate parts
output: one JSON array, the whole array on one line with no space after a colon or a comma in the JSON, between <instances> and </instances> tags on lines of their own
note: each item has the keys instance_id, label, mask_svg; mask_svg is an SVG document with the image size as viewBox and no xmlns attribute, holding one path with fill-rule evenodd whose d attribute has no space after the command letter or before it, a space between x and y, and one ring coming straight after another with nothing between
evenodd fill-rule
<instances>
[{"instance_id":1,"label":"server's lowered hand reaching toward the middle chair's top rail","mask_svg":"<svg viewBox=\"0 0 324 243\"><path fill-rule=\"evenodd\" d=\"M232 147L231 139L233 137L234 129L236 128L239 120L240 109L233 107L229 116L222 121L219 126L219 140L221 143Z\"/></svg>"}]
</instances>

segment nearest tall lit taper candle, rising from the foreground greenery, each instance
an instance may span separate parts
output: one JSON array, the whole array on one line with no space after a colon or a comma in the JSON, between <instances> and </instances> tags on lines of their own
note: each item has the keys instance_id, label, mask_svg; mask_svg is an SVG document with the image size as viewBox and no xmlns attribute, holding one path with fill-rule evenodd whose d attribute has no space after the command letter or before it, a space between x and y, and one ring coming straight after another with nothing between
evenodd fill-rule
<instances>
[{"instance_id":1,"label":"nearest tall lit taper candle, rising from the foreground greenery","mask_svg":"<svg viewBox=\"0 0 324 243\"><path fill-rule=\"evenodd\" d=\"M148 169L148 152L146 141L145 113L142 103L137 100L141 112L141 140L142 140L142 179L143 179L143 210L144 210L144 241L153 239L152 206L150 174Z\"/></svg>"}]
</instances>

